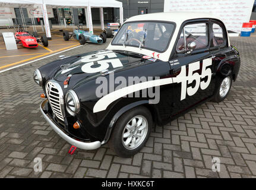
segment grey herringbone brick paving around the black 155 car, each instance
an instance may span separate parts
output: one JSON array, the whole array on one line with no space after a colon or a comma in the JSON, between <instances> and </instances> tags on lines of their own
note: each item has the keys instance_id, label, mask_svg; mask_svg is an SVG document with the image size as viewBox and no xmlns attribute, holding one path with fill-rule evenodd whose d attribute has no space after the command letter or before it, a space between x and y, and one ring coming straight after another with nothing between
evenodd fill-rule
<instances>
[{"instance_id":1,"label":"grey herringbone brick paving around the black 155 car","mask_svg":"<svg viewBox=\"0 0 256 190\"><path fill-rule=\"evenodd\" d=\"M146 147L122 159L108 145L69 155L65 143L39 112L41 88L33 81L34 69L52 56L0 74L0 178L251 178L256 177L256 37L235 37L241 69L228 98L208 102L157 126ZM65 55L103 49L86 45ZM43 171L34 172L41 157ZM219 157L220 172L211 170Z\"/></svg>"}]
</instances>

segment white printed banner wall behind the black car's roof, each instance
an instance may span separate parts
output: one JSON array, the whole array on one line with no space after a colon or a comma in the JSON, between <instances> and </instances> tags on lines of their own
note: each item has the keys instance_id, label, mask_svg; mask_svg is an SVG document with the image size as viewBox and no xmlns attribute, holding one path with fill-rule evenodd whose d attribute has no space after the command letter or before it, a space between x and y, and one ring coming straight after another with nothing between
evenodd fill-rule
<instances>
[{"instance_id":1,"label":"white printed banner wall behind the black car's roof","mask_svg":"<svg viewBox=\"0 0 256 190\"><path fill-rule=\"evenodd\" d=\"M254 0L165 0L164 12L209 12L220 18L227 30L241 33L242 24L251 17Z\"/></svg>"}]
</instances>

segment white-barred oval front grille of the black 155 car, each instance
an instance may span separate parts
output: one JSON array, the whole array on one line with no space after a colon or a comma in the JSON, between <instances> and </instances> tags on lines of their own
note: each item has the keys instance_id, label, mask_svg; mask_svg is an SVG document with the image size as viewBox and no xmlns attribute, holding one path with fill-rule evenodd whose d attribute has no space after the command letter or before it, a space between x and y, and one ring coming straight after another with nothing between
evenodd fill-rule
<instances>
[{"instance_id":1,"label":"white-barred oval front grille of the black 155 car","mask_svg":"<svg viewBox=\"0 0 256 190\"><path fill-rule=\"evenodd\" d=\"M45 88L53 113L57 118L61 119L61 121L64 121L64 96L61 86L54 81L48 81Z\"/></svg>"}]
</instances>

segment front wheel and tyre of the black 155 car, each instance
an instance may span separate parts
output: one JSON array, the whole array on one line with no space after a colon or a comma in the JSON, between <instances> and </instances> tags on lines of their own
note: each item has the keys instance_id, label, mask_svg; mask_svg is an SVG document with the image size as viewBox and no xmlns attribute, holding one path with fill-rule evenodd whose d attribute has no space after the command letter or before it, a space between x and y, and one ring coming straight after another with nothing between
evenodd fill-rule
<instances>
[{"instance_id":1,"label":"front wheel and tyre of the black 155 car","mask_svg":"<svg viewBox=\"0 0 256 190\"><path fill-rule=\"evenodd\" d=\"M109 146L118 156L134 156L146 144L152 126L152 116L146 107L130 109L116 122Z\"/></svg>"}]
</instances>

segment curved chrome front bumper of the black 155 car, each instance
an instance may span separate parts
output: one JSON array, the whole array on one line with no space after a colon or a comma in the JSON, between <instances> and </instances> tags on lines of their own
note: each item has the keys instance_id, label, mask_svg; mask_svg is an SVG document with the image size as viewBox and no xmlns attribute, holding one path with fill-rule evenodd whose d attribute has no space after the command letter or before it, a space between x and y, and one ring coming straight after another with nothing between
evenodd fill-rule
<instances>
[{"instance_id":1,"label":"curved chrome front bumper of the black 155 car","mask_svg":"<svg viewBox=\"0 0 256 190\"><path fill-rule=\"evenodd\" d=\"M44 100L40 106L40 111L43 114L43 117L46 119L48 124L52 127L52 129L59 135L61 138L63 138L65 141L67 141L69 144L74 145L77 148L81 148L83 150L94 150L100 147L101 143L100 141L94 141L92 143L84 143L81 141L77 141L74 138L69 137L62 129L59 128L57 124L55 124L52 119L50 119L50 116L45 111L45 104L48 102L48 100Z\"/></svg>"}]
</instances>

